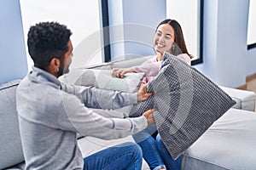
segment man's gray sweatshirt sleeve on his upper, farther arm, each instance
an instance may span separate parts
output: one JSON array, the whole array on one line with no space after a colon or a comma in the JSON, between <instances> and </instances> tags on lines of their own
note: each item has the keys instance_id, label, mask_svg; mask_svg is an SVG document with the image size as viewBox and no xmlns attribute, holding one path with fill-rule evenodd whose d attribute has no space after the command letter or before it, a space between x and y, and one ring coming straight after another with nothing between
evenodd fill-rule
<instances>
[{"instance_id":1,"label":"man's gray sweatshirt sleeve on his upper, farther arm","mask_svg":"<svg viewBox=\"0 0 256 170\"><path fill-rule=\"evenodd\" d=\"M137 104L137 93L128 94L94 87L77 86L64 82L62 82L61 88L68 94L76 95L86 107L90 108L118 109L126 105Z\"/></svg>"}]
</instances>

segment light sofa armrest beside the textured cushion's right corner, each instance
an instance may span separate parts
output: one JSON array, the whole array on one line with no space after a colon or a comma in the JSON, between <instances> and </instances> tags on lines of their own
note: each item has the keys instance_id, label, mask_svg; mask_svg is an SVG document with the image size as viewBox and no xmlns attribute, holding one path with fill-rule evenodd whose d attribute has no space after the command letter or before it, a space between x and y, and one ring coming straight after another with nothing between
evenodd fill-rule
<instances>
[{"instance_id":1,"label":"light sofa armrest beside the textured cushion's right corner","mask_svg":"<svg viewBox=\"0 0 256 170\"><path fill-rule=\"evenodd\" d=\"M220 86L220 88L222 88L225 93L229 94L232 99L236 100L236 105L234 105L233 108L254 111L256 98L254 92L223 86Z\"/></svg>"}]
</instances>

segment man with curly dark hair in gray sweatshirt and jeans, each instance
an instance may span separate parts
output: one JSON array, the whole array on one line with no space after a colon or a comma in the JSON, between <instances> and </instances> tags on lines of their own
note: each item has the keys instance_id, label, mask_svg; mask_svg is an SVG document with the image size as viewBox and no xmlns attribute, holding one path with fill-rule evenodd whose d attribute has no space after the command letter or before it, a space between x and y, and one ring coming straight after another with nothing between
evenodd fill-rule
<instances>
[{"instance_id":1,"label":"man with curly dark hair in gray sweatshirt and jeans","mask_svg":"<svg viewBox=\"0 0 256 170\"><path fill-rule=\"evenodd\" d=\"M109 92L60 82L72 62L72 32L56 22L30 28L27 45L34 65L17 88L17 111L26 169L141 169L137 144L121 144L85 157L77 133L118 139L154 123L152 111L137 118L106 118L89 108L115 109L148 99L146 86L136 94ZM100 99L100 100L98 100Z\"/></svg>"}]
</instances>

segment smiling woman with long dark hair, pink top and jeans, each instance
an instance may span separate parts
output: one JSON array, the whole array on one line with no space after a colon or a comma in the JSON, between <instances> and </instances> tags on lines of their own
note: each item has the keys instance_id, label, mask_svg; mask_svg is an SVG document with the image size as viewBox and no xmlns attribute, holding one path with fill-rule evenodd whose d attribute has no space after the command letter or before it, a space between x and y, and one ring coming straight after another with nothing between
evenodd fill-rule
<instances>
[{"instance_id":1,"label":"smiling woman with long dark hair, pink top and jeans","mask_svg":"<svg viewBox=\"0 0 256 170\"><path fill-rule=\"evenodd\" d=\"M147 83L159 73L161 60L165 52L176 55L178 59L182 59L188 65L190 65L193 58L186 48L182 28L176 20L163 20L156 27L154 51L156 53L154 58L145 61L142 65L131 68L113 69L112 76L123 78L128 72L144 72L143 83ZM160 135L158 134L156 139L151 136L155 131L156 127L153 125L132 136L137 144L141 146L143 158L148 162L148 166L151 169L180 169L180 159L172 159Z\"/></svg>"}]
</instances>

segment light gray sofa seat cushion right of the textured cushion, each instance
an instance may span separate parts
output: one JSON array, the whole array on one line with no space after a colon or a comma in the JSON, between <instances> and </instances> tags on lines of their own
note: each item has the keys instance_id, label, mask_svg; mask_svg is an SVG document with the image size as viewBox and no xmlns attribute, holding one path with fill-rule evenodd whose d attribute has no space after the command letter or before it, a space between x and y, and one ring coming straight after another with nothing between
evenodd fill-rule
<instances>
[{"instance_id":1,"label":"light gray sofa seat cushion right of the textured cushion","mask_svg":"<svg viewBox=\"0 0 256 170\"><path fill-rule=\"evenodd\" d=\"M254 170L256 113L231 108L183 154L183 170Z\"/></svg>"}]
</instances>

